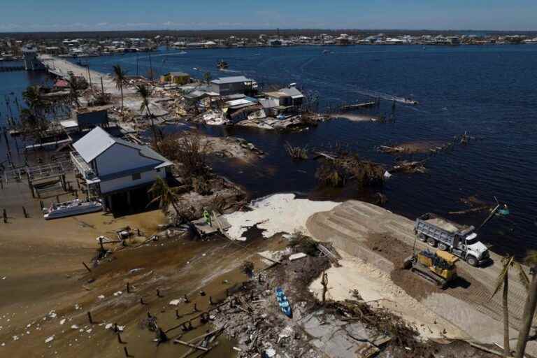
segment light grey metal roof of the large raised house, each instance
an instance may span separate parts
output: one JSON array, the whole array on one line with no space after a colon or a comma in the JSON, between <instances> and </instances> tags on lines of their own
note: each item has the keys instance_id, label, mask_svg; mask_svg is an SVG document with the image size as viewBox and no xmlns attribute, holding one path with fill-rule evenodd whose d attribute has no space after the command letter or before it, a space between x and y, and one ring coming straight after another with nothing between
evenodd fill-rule
<instances>
[{"instance_id":1,"label":"light grey metal roof of the large raised house","mask_svg":"<svg viewBox=\"0 0 537 358\"><path fill-rule=\"evenodd\" d=\"M168 159L162 157L162 155L159 155L159 153L155 152L155 150L152 150L147 145L138 145L136 143L125 141L121 138L116 138L108 134L108 132L101 127L95 127L92 129L90 133L76 141L73 144L73 147L76 149L78 154L80 154L80 157L83 157L86 163L90 163L93 159L99 157L99 155L101 155L115 143L139 150L140 154L144 157L162 162L158 166L155 166L155 168L172 165Z\"/></svg>"}]
</instances>

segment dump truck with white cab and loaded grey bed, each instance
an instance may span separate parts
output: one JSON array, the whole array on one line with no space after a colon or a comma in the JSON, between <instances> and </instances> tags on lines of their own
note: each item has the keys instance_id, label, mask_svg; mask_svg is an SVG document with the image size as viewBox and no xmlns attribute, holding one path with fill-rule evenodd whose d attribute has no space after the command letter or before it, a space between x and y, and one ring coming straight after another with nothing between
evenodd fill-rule
<instances>
[{"instance_id":1,"label":"dump truck with white cab and loaded grey bed","mask_svg":"<svg viewBox=\"0 0 537 358\"><path fill-rule=\"evenodd\" d=\"M420 241L432 247L457 255L472 266L490 260L489 250L477 240L475 227L451 222L431 213L416 219L414 233Z\"/></svg>"}]
</instances>

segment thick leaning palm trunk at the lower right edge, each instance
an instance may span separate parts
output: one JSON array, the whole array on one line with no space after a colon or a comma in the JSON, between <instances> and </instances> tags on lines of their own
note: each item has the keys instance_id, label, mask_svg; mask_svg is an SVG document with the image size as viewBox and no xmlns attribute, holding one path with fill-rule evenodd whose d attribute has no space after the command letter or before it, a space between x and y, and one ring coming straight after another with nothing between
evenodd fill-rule
<instances>
[{"instance_id":1,"label":"thick leaning palm trunk at the lower right edge","mask_svg":"<svg viewBox=\"0 0 537 358\"><path fill-rule=\"evenodd\" d=\"M537 306L537 251L530 251L526 257L526 262L531 266L531 282L527 287L528 296L524 303L524 312L522 313L522 327L518 333L516 358L523 358L528 342L529 330L534 322L535 309Z\"/></svg>"}]
</instances>

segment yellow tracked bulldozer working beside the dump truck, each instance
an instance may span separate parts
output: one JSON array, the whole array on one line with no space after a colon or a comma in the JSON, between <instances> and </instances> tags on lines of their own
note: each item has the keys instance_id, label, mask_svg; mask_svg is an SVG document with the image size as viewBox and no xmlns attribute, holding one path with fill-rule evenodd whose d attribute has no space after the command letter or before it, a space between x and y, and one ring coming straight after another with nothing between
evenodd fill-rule
<instances>
[{"instance_id":1,"label":"yellow tracked bulldozer working beside the dump truck","mask_svg":"<svg viewBox=\"0 0 537 358\"><path fill-rule=\"evenodd\" d=\"M422 250L405 259L404 268L420 275L429 282L433 282L439 287L445 288L449 282L457 278L457 262L459 258L447 251Z\"/></svg>"}]
</instances>

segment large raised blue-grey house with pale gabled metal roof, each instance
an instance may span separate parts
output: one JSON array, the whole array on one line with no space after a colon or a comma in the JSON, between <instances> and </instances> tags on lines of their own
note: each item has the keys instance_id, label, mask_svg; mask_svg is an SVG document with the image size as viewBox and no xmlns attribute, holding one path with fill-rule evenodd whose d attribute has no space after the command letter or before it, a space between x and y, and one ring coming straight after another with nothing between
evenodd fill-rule
<instances>
[{"instance_id":1,"label":"large raised blue-grey house with pale gabled metal roof","mask_svg":"<svg viewBox=\"0 0 537 358\"><path fill-rule=\"evenodd\" d=\"M146 204L148 187L157 178L166 178L173 165L148 146L115 138L101 127L92 129L73 148L71 160L78 177L88 194L101 196L110 211L131 208L140 201Z\"/></svg>"}]
</instances>

